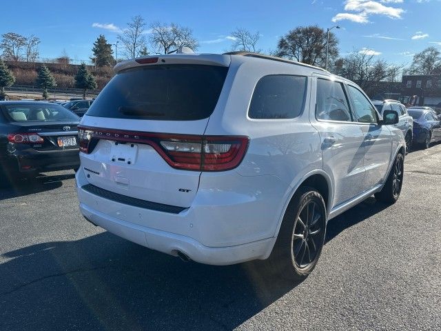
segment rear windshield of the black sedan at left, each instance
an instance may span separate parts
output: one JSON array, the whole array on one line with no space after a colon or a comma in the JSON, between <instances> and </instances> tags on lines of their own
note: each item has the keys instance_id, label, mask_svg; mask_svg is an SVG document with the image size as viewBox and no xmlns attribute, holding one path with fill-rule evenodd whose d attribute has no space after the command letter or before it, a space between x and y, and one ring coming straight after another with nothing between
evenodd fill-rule
<instances>
[{"instance_id":1,"label":"rear windshield of the black sedan at left","mask_svg":"<svg viewBox=\"0 0 441 331\"><path fill-rule=\"evenodd\" d=\"M11 122L79 121L79 117L76 114L53 103L6 105L3 108L3 113Z\"/></svg>"}]
</instances>

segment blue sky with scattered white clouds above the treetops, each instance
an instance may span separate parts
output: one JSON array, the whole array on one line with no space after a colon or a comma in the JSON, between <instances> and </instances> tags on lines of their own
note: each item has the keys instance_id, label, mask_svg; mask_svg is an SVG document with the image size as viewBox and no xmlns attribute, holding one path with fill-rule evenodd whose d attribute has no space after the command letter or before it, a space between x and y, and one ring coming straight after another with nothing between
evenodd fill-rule
<instances>
[{"instance_id":1,"label":"blue sky with scattered white clouds above the treetops","mask_svg":"<svg viewBox=\"0 0 441 331\"><path fill-rule=\"evenodd\" d=\"M92 43L104 34L114 43L130 17L147 23L176 22L188 26L200 41L199 52L231 47L235 28L260 32L259 48L274 50L278 38L297 26L336 24L340 54L365 50L397 63L429 46L441 49L441 0L187 0L187 1L6 1L0 34L35 34L40 56L88 60ZM6 14L4 14L6 13Z\"/></svg>"}]
</instances>

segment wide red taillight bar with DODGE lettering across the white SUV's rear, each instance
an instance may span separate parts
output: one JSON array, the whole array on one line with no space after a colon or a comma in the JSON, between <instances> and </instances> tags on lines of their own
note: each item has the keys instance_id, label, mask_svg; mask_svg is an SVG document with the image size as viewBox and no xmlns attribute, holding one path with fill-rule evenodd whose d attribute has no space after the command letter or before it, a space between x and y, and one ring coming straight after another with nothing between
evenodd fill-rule
<instances>
[{"instance_id":1,"label":"wide red taillight bar with DODGE lettering across the white SUV's rear","mask_svg":"<svg viewBox=\"0 0 441 331\"><path fill-rule=\"evenodd\" d=\"M81 152L92 152L99 139L144 143L152 146L173 168L198 171L236 168L249 141L248 137L241 136L196 136L79 127Z\"/></svg>"}]
</instances>

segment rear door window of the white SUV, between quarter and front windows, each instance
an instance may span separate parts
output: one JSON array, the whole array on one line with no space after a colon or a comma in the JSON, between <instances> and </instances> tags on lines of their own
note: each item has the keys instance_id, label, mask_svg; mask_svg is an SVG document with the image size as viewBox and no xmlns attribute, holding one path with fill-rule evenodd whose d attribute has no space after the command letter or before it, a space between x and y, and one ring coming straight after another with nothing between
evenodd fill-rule
<instances>
[{"instance_id":1,"label":"rear door window of the white SUV, between quarter and front windows","mask_svg":"<svg viewBox=\"0 0 441 331\"><path fill-rule=\"evenodd\" d=\"M352 121L342 83L317 79L316 118L325 121Z\"/></svg>"}]
</instances>

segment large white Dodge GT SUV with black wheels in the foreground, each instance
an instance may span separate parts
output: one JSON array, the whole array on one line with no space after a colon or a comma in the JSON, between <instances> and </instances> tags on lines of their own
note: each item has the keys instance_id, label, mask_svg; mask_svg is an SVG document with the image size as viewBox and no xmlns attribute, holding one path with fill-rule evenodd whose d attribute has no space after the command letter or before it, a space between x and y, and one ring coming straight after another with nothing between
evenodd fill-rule
<instances>
[{"instance_id":1,"label":"large white Dodge GT SUV with black wheels in the foreground","mask_svg":"<svg viewBox=\"0 0 441 331\"><path fill-rule=\"evenodd\" d=\"M79 126L88 221L213 265L267 259L302 279L327 221L395 202L404 137L351 81L253 53L132 59ZM390 124L390 126L389 126Z\"/></svg>"}]
</instances>

